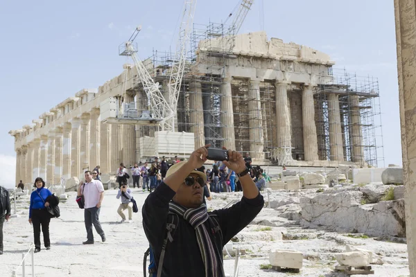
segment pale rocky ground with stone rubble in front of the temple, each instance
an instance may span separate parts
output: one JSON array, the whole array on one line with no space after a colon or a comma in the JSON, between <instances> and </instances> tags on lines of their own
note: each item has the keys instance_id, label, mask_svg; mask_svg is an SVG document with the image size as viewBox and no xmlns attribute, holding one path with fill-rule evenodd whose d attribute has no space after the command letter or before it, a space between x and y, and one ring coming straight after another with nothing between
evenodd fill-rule
<instances>
[{"instance_id":1,"label":"pale rocky ground with stone rubble in front of the temple","mask_svg":"<svg viewBox=\"0 0 416 277\"><path fill-rule=\"evenodd\" d=\"M281 183L286 184L284 181ZM403 199L382 200L389 188L395 189L395 195L403 195L403 186L385 186L386 190L379 184L345 185L342 188L316 184L306 187L310 186L315 188L284 190L283 187L262 192L266 207L249 226L232 238L225 247L227 251L223 250L227 274L232 276L236 249L240 249L240 277L286 276L271 269L271 265L295 268L302 265L300 274L297 274L301 277L341 277L344 275L335 272L334 267L340 262L337 260L347 262L347 258L355 261L354 265L359 262L361 265L371 264L374 276L409 275L406 238L399 238L405 235ZM141 226L141 205L148 193L133 191L139 213L134 214L131 224L119 224L116 190L106 191L100 219L108 234L107 242L96 242L92 247L81 245L85 240L83 211L74 201L76 193L69 192L67 202L60 204L61 217L51 222L51 251L35 255L35 274L141 276L143 253L148 247ZM212 193L212 197L212 201L207 201L209 211L238 201L242 193ZM370 202L370 199L374 203L363 203ZM20 197L17 205L20 217L11 219L4 227L5 253L1 259L5 266L0 269L0 276L10 276L20 261L21 253L33 240L32 227L27 222L28 196ZM127 245L126 241L129 242ZM286 257L284 261L281 258L284 263L277 264L277 258L270 258L271 253L277 253L276 249L284 251L282 253L299 253L297 259L284 254L280 256ZM126 253L135 255L126 256ZM50 255L55 258L47 258ZM92 256L96 257L94 265L89 262ZM125 258L114 260L119 256Z\"/></svg>"}]
</instances>

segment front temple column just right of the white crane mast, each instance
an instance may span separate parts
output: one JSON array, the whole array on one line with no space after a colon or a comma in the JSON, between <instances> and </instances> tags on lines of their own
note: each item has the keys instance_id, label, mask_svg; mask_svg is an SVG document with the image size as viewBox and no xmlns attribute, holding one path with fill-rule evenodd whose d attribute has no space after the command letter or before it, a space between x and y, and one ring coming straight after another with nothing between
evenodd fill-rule
<instances>
[{"instance_id":1,"label":"front temple column just right of the white crane mast","mask_svg":"<svg viewBox=\"0 0 416 277\"><path fill-rule=\"evenodd\" d=\"M190 84L189 105L191 132L195 136L195 148L201 148L205 145L204 132L204 111L202 107L202 86L198 80L193 80Z\"/></svg>"}]
</instances>

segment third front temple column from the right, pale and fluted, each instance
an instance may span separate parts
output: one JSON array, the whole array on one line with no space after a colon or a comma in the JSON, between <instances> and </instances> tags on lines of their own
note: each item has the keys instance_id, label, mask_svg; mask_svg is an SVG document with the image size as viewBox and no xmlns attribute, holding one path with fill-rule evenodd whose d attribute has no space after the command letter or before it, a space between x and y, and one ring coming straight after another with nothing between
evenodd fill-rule
<instances>
[{"instance_id":1,"label":"third front temple column from the right, pale and fluted","mask_svg":"<svg viewBox=\"0 0 416 277\"><path fill-rule=\"evenodd\" d=\"M302 118L305 161L318 161L318 136L316 134L312 86L305 85L302 91Z\"/></svg>"}]
</instances>

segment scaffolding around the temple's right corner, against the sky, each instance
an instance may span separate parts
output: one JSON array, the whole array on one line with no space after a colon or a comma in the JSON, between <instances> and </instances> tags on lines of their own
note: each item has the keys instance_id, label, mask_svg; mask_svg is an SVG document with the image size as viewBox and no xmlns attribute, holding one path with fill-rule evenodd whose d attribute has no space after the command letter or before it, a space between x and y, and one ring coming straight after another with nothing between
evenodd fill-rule
<instances>
[{"instance_id":1,"label":"scaffolding around the temple's right corner, against the sky","mask_svg":"<svg viewBox=\"0 0 416 277\"><path fill-rule=\"evenodd\" d=\"M345 69L330 68L327 75L331 75L331 80L321 82L314 91L319 158L332 161L331 146L342 146L345 161L363 167L384 166L378 79L348 73ZM330 114L332 109L338 111L338 107L331 107L331 95L338 96L340 114L340 128L333 128L332 132ZM333 144L338 132L342 145Z\"/></svg>"}]
</instances>

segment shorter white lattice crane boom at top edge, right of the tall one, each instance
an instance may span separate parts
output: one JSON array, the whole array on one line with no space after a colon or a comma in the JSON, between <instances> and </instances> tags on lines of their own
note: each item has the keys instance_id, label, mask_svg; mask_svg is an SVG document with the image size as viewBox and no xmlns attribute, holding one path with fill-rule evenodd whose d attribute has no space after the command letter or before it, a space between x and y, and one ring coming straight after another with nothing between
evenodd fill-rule
<instances>
[{"instance_id":1,"label":"shorter white lattice crane boom at top edge, right of the tall one","mask_svg":"<svg viewBox=\"0 0 416 277\"><path fill-rule=\"evenodd\" d=\"M243 21L245 17L248 14L248 11L250 10L254 0L241 0L239 1L239 4L237 5L239 7L239 10L234 15L234 18L232 20L232 24L229 26L227 33L225 34L225 37L227 37L227 43L225 43L226 46L229 46L228 52L232 52L232 49L235 46L235 40L236 35L239 33L239 30L241 28L241 25L243 25ZM231 12L227 18L231 18L233 16L233 13ZM225 22L227 22L225 20Z\"/></svg>"}]
</instances>

